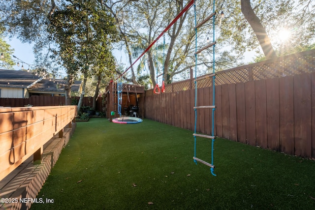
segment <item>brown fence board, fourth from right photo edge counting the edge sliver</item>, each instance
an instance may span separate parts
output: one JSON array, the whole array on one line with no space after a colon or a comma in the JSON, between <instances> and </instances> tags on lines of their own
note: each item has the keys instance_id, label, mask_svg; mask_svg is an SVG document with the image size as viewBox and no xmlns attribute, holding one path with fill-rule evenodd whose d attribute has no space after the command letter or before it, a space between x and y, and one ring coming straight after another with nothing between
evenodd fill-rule
<instances>
[{"instance_id":1,"label":"brown fence board, fourth from right photo edge counting the edge sliver","mask_svg":"<svg viewBox=\"0 0 315 210\"><path fill-rule=\"evenodd\" d=\"M267 147L279 150L279 79L266 80Z\"/></svg>"}]
</instances>

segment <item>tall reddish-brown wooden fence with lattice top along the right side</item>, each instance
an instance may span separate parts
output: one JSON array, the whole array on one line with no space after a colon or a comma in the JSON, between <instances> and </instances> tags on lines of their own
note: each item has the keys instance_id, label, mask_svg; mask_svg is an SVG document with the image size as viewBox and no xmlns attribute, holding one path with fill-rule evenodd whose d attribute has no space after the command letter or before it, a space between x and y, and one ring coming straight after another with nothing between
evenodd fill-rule
<instances>
[{"instance_id":1,"label":"tall reddish-brown wooden fence with lattice top along the right side","mask_svg":"<svg viewBox=\"0 0 315 210\"><path fill-rule=\"evenodd\" d=\"M216 136L315 159L314 72L315 50L218 72ZM147 90L145 117L193 130L192 83ZM197 106L212 104L211 86L210 78L198 81ZM210 135L211 111L198 112L198 132Z\"/></svg>"}]
</instances>

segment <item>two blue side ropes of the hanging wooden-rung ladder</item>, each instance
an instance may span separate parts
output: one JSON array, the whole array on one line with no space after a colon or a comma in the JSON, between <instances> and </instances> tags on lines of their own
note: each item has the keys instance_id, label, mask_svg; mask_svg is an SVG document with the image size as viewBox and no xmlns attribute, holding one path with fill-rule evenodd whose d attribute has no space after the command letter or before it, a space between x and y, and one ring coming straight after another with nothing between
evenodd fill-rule
<instances>
[{"instance_id":1,"label":"two blue side ropes of the hanging wooden-rung ladder","mask_svg":"<svg viewBox=\"0 0 315 210\"><path fill-rule=\"evenodd\" d=\"M195 84L195 98L194 98L194 106L197 107L197 18L196 18L196 0L194 0L193 3L193 7L194 7L194 18L195 18L195 80L194 80L194 84ZM215 0L213 0L213 13L215 13ZM215 16L213 16L213 42L215 42ZM213 74L215 73L215 45L213 45ZM213 103L212 105L215 106L215 93L216 93L216 89L215 89L215 79L216 77L214 76L212 79L212 85L213 85ZM215 108L212 108L212 136L214 136L214 112L215 112ZM194 119L194 133L197 132L197 109L194 109L194 114L195 114L195 119ZM212 139L211 142L211 165L214 165L214 141L215 139ZM196 157L196 150L197 150L197 139L196 136L194 135L194 157ZM197 160L194 159L194 162L197 164ZM211 167L211 174L213 176L217 176L216 174L214 174L214 168Z\"/></svg>"}]
</instances>

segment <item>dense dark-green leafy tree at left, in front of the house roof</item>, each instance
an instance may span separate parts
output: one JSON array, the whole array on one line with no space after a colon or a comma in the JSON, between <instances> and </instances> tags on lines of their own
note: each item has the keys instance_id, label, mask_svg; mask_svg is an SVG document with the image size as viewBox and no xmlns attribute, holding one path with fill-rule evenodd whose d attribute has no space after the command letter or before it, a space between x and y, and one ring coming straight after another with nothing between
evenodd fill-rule
<instances>
[{"instance_id":1,"label":"dense dark-green leafy tree at left, in front of the house roof","mask_svg":"<svg viewBox=\"0 0 315 210\"><path fill-rule=\"evenodd\" d=\"M58 43L55 53L66 66L68 78L79 70L84 75L83 92L78 104L80 109L87 78L96 72L100 81L101 73L112 75L115 68L110 51L110 44L117 39L114 21L97 0L66 1L50 16L48 31L52 40ZM73 80L68 82L71 87Z\"/></svg>"}]
</instances>

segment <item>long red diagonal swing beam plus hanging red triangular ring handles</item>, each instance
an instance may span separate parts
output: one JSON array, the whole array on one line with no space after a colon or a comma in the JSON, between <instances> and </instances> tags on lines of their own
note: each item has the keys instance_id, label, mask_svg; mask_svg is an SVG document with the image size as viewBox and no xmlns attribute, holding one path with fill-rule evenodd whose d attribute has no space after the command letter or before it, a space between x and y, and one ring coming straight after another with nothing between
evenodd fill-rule
<instances>
[{"instance_id":1,"label":"long red diagonal swing beam plus hanging red triangular ring handles","mask_svg":"<svg viewBox=\"0 0 315 210\"><path fill-rule=\"evenodd\" d=\"M124 71L119 77L117 77L114 81L118 80L120 77L122 77L130 68L131 66L133 66L138 60L141 59L141 57L148 52L148 50L150 50L150 48L158 41L158 39L167 31L169 30L169 28L171 28L171 26L174 25L174 23L187 11L189 10L189 8L192 6L194 0L190 0L188 2L188 4L183 8L183 10L174 18L174 20L158 35L158 37L149 45L149 47L126 69L126 71ZM162 82L162 89L164 86L164 81ZM165 88L164 88L165 91ZM159 88L158 88L158 92L159 92ZM158 94L158 93L156 93Z\"/></svg>"}]
</instances>

